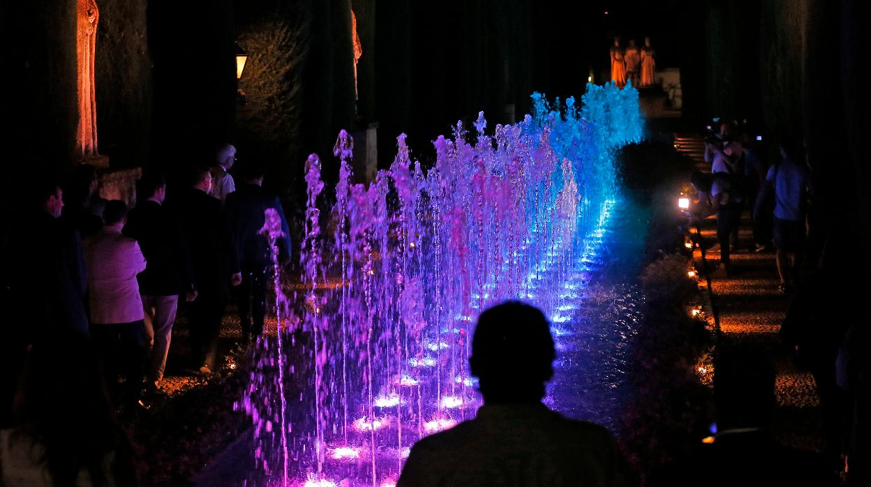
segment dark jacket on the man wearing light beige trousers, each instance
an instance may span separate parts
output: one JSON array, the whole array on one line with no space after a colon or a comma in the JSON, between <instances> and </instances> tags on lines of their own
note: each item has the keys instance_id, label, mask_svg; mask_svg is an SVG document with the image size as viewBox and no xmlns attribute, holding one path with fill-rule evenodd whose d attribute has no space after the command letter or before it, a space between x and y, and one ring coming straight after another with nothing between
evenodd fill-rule
<instances>
[{"instance_id":1,"label":"dark jacket on the man wearing light beige trousers","mask_svg":"<svg viewBox=\"0 0 871 487\"><path fill-rule=\"evenodd\" d=\"M148 267L138 274L139 293L171 296L193 290L193 269L179 221L157 201L140 202L127 215L124 234L139 242Z\"/></svg>"}]
</instances>

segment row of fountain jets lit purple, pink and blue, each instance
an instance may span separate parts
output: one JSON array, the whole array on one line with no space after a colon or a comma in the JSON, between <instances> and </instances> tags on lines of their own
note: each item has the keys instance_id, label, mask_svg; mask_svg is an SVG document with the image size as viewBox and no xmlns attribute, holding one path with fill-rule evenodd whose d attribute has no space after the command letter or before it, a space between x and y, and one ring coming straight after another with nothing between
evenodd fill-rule
<instances>
[{"instance_id":1,"label":"row of fountain jets lit purple, pink and blue","mask_svg":"<svg viewBox=\"0 0 871 487\"><path fill-rule=\"evenodd\" d=\"M469 135L457 123L434 141L432 167L400 135L369 185L351 183L342 131L332 208L319 208L309 157L301 285L292 298L279 287L278 336L258 342L238 403L268 484L395 484L413 443L475 415L469 344L483 308L531 301L555 335L577 331L583 271L618 193L615 154L641 137L638 93L588 85L580 109L532 98L517 124L489 132L481 113Z\"/></svg>"}]
</instances>

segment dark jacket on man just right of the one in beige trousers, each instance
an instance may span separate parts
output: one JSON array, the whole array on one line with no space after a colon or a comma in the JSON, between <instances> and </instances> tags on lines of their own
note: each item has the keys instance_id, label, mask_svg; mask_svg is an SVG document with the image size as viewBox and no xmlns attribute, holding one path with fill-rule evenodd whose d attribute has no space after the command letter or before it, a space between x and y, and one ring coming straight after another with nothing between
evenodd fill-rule
<instances>
[{"instance_id":1,"label":"dark jacket on man just right of the one in beige trousers","mask_svg":"<svg viewBox=\"0 0 871 487\"><path fill-rule=\"evenodd\" d=\"M187 242L194 287L204 298L228 298L230 278L240 270L220 200L190 188L172 205Z\"/></svg>"}]
</instances>

